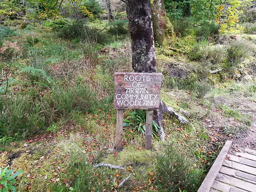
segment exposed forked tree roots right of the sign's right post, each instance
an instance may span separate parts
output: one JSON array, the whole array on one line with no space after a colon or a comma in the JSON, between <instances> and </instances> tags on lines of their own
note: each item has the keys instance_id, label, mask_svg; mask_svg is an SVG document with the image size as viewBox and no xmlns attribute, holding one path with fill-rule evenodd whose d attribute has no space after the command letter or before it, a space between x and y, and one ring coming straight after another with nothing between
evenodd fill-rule
<instances>
[{"instance_id":1,"label":"exposed forked tree roots right of the sign's right post","mask_svg":"<svg viewBox=\"0 0 256 192\"><path fill-rule=\"evenodd\" d=\"M187 123L187 119L185 117L176 113L171 106L167 106L162 100L160 100L160 106L159 109L155 112L154 121L159 126L159 135L161 141L164 141L165 138L164 127L162 125L162 118L163 114L165 113L173 114L180 121L181 124Z\"/></svg>"}]
</instances>

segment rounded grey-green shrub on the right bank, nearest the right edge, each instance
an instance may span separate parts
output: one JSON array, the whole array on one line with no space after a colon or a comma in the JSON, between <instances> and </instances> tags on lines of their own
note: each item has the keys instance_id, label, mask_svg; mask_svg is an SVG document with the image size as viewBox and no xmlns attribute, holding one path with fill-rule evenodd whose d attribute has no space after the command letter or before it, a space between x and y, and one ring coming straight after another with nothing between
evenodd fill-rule
<instances>
[{"instance_id":1,"label":"rounded grey-green shrub on the right bank, nearest the right edge","mask_svg":"<svg viewBox=\"0 0 256 192\"><path fill-rule=\"evenodd\" d=\"M251 45L248 41L234 40L227 48L228 67L237 67L245 58L251 56Z\"/></svg>"}]
</instances>

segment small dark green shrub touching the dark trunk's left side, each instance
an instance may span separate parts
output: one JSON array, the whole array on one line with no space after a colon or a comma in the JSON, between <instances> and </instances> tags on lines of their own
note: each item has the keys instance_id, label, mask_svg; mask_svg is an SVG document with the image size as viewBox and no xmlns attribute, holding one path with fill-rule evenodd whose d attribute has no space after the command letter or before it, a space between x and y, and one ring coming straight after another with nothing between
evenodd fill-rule
<instances>
[{"instance_id":1,"label":"small dark green shrub touching the dark trunk's left side","mask_svg":"<svg viewBox=\"0 0 256 192\"><path fill-rule=\"evenodd\" d=\"M109 32L112 35L125 35L128 32L128 19L114 20L110 22Z\"/></svg>"}]
</instances>

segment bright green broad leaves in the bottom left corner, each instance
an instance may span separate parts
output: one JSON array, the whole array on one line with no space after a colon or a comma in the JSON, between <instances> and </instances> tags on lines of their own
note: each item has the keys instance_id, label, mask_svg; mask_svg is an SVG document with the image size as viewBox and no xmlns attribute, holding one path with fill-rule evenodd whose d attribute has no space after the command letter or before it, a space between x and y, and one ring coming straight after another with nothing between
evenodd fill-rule
<instances>
[{"instance_id":1,"label":"bright green broad leaves in the bottom left corner","mask_svg":"<svg viewBox=\"0 0 256 192\"><path fill-rule=\"evenodd\" d=\"M16 189L12 184L15 182L15 177L20 175L22 171L13 173L14 170L9 169L8 167L5 167L3 170L0 167L0 192L8 192L9 190L16 192Z\"/></svg>"}]
</instances>

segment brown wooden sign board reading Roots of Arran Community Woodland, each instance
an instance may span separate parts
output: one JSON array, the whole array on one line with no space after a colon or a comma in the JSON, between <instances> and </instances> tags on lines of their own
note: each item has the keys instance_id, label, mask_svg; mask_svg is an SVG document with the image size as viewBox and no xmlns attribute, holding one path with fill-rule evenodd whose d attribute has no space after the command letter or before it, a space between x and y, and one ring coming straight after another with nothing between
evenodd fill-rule
<instances>
[{"instance_id":1,"label":"brown wooden sign board reading Roots of Arran Community Woodland","mask_svg":"<svg viewBox=\"0 0 256 192\"><path fill-rule=\"evenodd\" d=\"M161 81L161 73L115 73L114 109L158 109Z\"/></svg>"}]
</instances>

